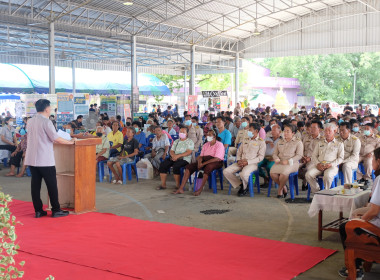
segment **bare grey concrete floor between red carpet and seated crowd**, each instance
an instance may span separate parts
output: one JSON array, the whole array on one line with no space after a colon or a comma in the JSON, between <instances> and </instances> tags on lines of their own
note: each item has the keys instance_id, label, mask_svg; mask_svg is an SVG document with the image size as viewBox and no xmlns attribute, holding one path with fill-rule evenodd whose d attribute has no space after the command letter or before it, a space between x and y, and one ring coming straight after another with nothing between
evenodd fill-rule
<instances>
[{"instance_id":1,"label":"bare grey concrete floor between red carpet and seated crowd","mask_svg":"<svg viewBox=\"0 0 380 280\"><path fill-rule=\"evenodd\" d=\"M4 177L7 169L0 171L0 186L5 193L15 199L31 201L30 178ZM168 176L171 180L172 176ZM127 185L109 183L96 184L96 207L99 212L114 213L142 220L161 223L173 223L202 229L230 232L247 236L262 237L285 242L318 246L339 250L327 260L299 275L298 279L343 279L338 270L344 264L338 233L324 232L323 241L317 240L317 216L310 218L307 214L309 204L288 204L283 199L275 198L276 189L272 189L272 197L266 196L267 189L254 198L237 197L236 191L228 195L228 186L213 194L205 190L200 197L187 192L174 196L174 181L168 182L168 189L156 191L157 180L135 180ZM219 185L218 185L219 186ZM306 192L301 192L301 197ZM46 198L46 187L41 197ZM44 201L45 202L45 201ZM230 212L221 215L204 215L203 210L221 209ZM162 210L164 213L159 213ZM337 218L338 213L326 212L324 221ZM380 279L380 265L374 265L372 272L366 274L365 280Z\"/></svg>"}]
</instances>

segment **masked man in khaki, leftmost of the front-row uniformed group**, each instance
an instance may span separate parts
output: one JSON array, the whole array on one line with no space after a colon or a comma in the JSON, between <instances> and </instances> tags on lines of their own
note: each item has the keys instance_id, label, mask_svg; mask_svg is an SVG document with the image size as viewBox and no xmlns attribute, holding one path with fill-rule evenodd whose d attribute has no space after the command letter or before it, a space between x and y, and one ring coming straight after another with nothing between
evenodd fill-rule
<instances>
[{"instance_id":1,"label":"masked man in khaki, leftmost of the front-row uniformed group","mask_svg":"<svg viewBox=\"0 0 380 280\"><path fill-rule=\"evenodd\" d=\"M223 175L231 183L232 187L240 186L238 195L245 196L248 190L248 179L251 173L257 170L257 165L264 159L265 142L259 137L260 125L251 123L248 130L248 140L244 140L237 152L237 162L223 170ZM239 172L240 179L235 173ZM258 178L256 178L258 180Z\"/></svg>"}]
</instances>

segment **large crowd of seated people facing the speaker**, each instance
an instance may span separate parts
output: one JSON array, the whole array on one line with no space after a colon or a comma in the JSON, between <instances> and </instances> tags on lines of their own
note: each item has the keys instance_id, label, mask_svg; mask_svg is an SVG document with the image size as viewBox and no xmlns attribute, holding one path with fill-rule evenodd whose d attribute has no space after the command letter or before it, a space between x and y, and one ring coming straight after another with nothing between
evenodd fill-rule
<instances>
[{"instance_id":1,"label":"large crowd of seated people facing the speaker","mask_svg":"<svg viewBox=\"0 0 380 280\"><path fill-rule=\"evenodd\" d=\"M346 183L352 182L352 172L357 170L359 182L369 184L373 151L380 147L379 117L372 115L370 110L353 111L351 106L346 106L344 113L337 117L327 106L315 105L307 111L297 103L287 115L264 104L244 109L237 104L233 111L216 115L206 111L202 116L186 111L180 116L177 106L168 106L165 110L156 106L148 119L139 117L135 121L127 118L123 122L120 116L99 114L95 131L78 134L83 128L82 121L80 115L64 128L72 137L102 138L102 144L97 146L97 162L108 161L114 183L121 181L119 167L123 162L146 158L154 174L161 177L158 189L166 188L169 169L175 169L179 192L183 187L181 183L186 184L186 176L197 171L205 159L218 158L210 154L212 149L207 143L212 141L212 147L220 144L223 147L218 156L223 152L220 162L225 167L224 176L232 187L239 187L238 195L247 194L247 178L258 171L264 178L261 187L268 187L270 181L277 184L279 198L287 196L288 177L297 172L302 189L310 188L313 193L320 189L318 177L323 178L325 188L330 188L339 171ZM10 117L5 118L0 137L0 149L12 153L13 167L8 173L12 176L14 169L20 166L21 152L26 147L15 138ZM27 137L26 128L22 137ZM187 155L189 150L191 154ZM213 165L216 162L220 164L216 160ZM202 165L202 170L206 165ZM181 168L184 178L178 181ZM205 173L204 178L207 176Z\"/></svg>"}]
</instances>

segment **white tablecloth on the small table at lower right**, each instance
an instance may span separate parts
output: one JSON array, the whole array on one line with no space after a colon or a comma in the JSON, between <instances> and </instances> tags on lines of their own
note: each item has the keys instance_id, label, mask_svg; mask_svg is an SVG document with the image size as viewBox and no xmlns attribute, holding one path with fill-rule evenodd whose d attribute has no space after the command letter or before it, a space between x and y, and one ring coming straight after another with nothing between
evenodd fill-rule
<instances>
[{"instance_id":1,"label":"white tablecloth on the small table at lower right","mask_svg":"<svg viewBox=\"0 0 380 280\"><path fill-rule=\"evenodd\" d=\"M342 189L342 186L334 188L333 190ZM315 194L311 202L308 214L314 217L318 214L319 210L334 211L334 212L349 212L351 217L352 211L367 205L371 191L366 190L359 192L355 195L320 195Z\"/></svg>"}]
</instances>

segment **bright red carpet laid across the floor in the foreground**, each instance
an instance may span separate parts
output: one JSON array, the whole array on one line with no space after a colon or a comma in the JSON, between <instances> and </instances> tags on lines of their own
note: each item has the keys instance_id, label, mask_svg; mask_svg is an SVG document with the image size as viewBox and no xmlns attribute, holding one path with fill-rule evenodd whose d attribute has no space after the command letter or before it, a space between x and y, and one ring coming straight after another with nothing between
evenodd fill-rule
<instances>
[{"instance_id":1,"label":"bright red carpet laid across the floor in the foreground","mask_svg":"<svg viewBox=\"0 0 380 280\"><path fill-rule=\"evenodd\" d=\"M25 279L292 279L335 252L113 214L35 219L22 201L11 211Z\"/></svg>"}]
</instances>

